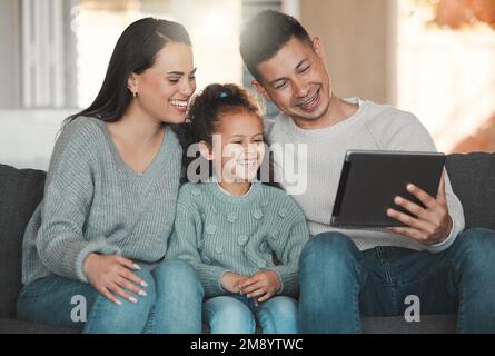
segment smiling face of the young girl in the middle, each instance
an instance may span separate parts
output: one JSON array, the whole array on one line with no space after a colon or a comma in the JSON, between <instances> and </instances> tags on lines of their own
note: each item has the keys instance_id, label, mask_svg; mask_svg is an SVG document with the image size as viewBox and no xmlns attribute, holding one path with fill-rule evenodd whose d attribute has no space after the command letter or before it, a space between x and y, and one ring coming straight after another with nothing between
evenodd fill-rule
<instances>
[{"instance_id":1,"label":"smiling face of the young girl in the middle","mask_svg":"<svg viewBox=\"0 0 495 356\"><path fill-rule=\"evenodd\" d=\"M259 116L246 110L224 115L212 140L217 178L227 182L250 181L256 178L264 155Z\"/></svg>"}]
</instances>

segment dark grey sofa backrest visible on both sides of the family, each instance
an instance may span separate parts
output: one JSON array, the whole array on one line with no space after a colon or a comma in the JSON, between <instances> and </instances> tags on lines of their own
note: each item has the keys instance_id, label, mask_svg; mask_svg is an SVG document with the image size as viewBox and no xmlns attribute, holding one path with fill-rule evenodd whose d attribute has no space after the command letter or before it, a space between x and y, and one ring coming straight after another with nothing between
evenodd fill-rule
<instances>
[{"instance_id":1,"label":"dark grey sofa backrest visible on both sides of the family","mask_svg":"<svg viewBox=\"0 0 495 356\"><path fill-rule=\"evenodd\" d=\"M466 228L495 229L495 154L451 155L446 168ZM46 174L0 165L0 318L14 317L21 288L22 235L43 195Z\"/></svg>"}]
</instances>

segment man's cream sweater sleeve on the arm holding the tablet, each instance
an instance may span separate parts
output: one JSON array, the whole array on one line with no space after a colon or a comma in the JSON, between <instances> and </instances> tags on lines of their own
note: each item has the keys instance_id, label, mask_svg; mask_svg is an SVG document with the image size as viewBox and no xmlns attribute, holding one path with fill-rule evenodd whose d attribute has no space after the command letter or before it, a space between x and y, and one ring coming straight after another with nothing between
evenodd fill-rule
<instances>
[{"instance_id":1,"label":"man's cream sweater sleeve on the arm holding the tablet","mask_svg":"<svg viewBox=\"0 0 495 356\"><path fill-rule=\"evenodd\" d=\"M382 136L384 149L388 150L408 150L408 151L437 151L432 136L422 125L422 122L412 113L396 111L379 125L387 125L387 128L380 127L378 130L386 132ZM376 130L376 131L378 131ZM374 135L375 139L380 137ZM453 227L448 237L439 244L425 246L430 253L440 253L447 249L456 239L457 235L464 230L464 210L461 200L454 194L447 171L445 172L445 196L447 199L448 212L451 215ZM420 187L419 187L420 188Z\"/></svg>"}]
</instances>

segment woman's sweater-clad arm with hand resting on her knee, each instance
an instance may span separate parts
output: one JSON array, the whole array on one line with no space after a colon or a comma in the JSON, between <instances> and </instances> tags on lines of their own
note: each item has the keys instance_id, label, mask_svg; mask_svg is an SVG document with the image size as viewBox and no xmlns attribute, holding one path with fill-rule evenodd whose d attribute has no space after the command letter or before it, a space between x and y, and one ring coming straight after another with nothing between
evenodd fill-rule
<instances>
[{"instance_id":1,"label":"woman's sweater-clad arm with hand resting on her knee","mask_svg":"<svg viewBox=\"0 0 495 356\"><path fill-rule=\"evenodd\" d=\"M109 300L121 304L113 295L137 303L129 294L146 296L146 283L133 271L139 269L106 236L87 239L83 226L95 194L96 157L92 138L98 135L88 121L65 127L50 162L37 250L52 273L90 283Z\"/></svg>"}]
</instances>

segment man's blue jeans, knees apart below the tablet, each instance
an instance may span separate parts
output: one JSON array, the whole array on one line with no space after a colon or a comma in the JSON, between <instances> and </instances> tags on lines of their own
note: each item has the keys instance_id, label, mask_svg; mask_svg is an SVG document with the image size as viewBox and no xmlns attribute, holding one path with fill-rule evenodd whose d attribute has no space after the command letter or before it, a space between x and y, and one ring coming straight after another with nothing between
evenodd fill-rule
<instances>
[{"instance_id":1,"label":"man's blue jeans, knees apart below the tablet","mask_svg":"<svg viewBox=\"0 0 495 356\"><path fill-rule=\"evenodd\" d=\"M495 333L495 233L469 229L446 250L359 251L339 233L313 237L299 260L301 333L362 333L360 316L457 314L459 333Z\"/></svg>"}]
</instances>

